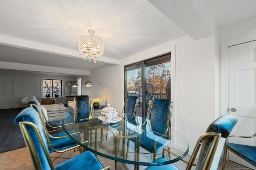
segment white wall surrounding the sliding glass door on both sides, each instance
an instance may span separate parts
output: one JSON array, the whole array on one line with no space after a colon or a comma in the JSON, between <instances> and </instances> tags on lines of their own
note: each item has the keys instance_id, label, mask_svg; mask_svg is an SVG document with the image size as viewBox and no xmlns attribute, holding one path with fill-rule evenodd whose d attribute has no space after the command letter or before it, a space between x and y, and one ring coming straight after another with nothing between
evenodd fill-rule
<instances>
[{"instance_id":1,"label":"white wall surrounding the sliding glass door on both sides","mask_svg":"<svg viewBox=\"0 0 256 170\"><path fill-rule=\"evenodd\" d=\"M176 92L173 123L188 140L190 154L200 135L215 119L215 44L214 35L195 41L188 35L128 57L121 65L100 68L90 79L104 86L108 103L118 111L124 103L124 65L146 60L176 48ZM175 54L172 53L172 57Z\"/></svg>"}]
</instances>

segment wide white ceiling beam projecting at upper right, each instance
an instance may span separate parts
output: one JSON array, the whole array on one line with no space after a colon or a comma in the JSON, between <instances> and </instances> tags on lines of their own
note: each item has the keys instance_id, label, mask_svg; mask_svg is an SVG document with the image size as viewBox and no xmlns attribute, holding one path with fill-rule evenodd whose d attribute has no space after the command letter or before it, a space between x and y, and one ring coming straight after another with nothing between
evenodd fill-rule
<instances>
[{"instance_id":1,"label":"wide white ceiling beam projecting at upper right","mask_svg":"<svg viewBox=\"0 0 256 170\"><path fill-rule=\"evenodd\" d=\"M148 0L195 40L214 34L215 20L203 0Z\"/></svg>"}]
</instances>

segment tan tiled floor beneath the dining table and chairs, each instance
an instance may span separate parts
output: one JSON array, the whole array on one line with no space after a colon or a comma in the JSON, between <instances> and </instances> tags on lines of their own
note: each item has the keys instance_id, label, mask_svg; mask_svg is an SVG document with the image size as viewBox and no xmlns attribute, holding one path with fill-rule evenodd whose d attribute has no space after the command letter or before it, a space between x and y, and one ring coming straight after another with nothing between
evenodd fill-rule
<instances>
[{"instance_id":1,"label":"tan tiled floor beneath the dining table and chairs","mask_svg":"<svg viewBox=\"0 0 256 170\"><path fill-rule=\"evenodd\" d=\"M74 152L74 150L70 150L69 152L65 152L63 154L60 153L50 153L50 156L52 158L53 164L57 165L60 162L63 162L67 160L68 158L71 158L75 155L79 154L78 151ZM107 158L103 158L101 156L98 156L98 159L103 164L103 166L110 166L111 170L114 170L114 161L109 160ZM188 158L189 159L189 158ZM218 170L221 170L221 162ZM181 170L184 170L186 167L186 164L182 161L178 161L174 163L178 168ZM129 169L134 169L134 165L128 164L127 167ZM140 166L140 170L144 170L146 166ZM33 164L31 162L30 156L28 154L27 148L12 150L9 152L4 152L0 154L0 170L33 170ZM86 169L86 168L85 168ZM123 170L122 163L118 163L118 170ZM194 169L194 167L192 168ZM238 169L248 169L244 166L241 166L239 164L236 164L231 161L227 161L225 170L238 170Z\"/></svg>"}]
</instances>

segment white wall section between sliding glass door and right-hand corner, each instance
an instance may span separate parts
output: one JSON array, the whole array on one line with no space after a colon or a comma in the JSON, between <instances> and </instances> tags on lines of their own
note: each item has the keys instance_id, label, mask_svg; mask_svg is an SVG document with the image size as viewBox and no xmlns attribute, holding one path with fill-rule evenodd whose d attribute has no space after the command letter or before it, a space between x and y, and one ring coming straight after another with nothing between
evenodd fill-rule
<instances>
[{"instance_id":1,"label":"white wall section between sliding glass door and right-hand corner","mask_svg":"<svg viewBox=\"0 0 256 170\"><path fill-rule=\"evenodd\" d=\"M188 140L190 153L215 119L214 35L193 40L184 36L176 45L175 129Z\"/></svg>"}]
</instances>

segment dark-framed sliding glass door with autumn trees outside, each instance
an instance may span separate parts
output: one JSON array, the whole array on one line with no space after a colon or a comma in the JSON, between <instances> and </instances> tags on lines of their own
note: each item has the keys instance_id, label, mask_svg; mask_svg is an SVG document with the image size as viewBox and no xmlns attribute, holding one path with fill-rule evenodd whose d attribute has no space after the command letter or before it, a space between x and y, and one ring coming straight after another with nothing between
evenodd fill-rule
<instances>
[{"instance_id":1,"label":"dark-framed sliding glass door with autumn trees outside","mask_svg":"<svg viewBox=\"0 0 256 170\"><path fill-rule=\"evenodd\" d=\"M125 66L125 97L138 96L137 115L146 116L153 98L170 99L171 54Z\"/></svg>"}]
</instances>

